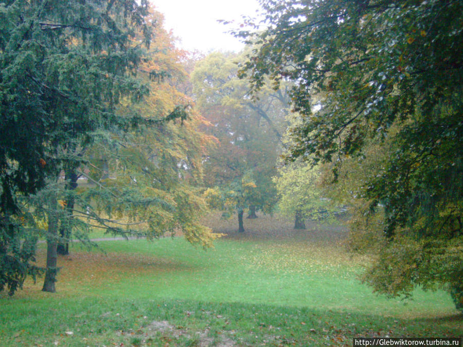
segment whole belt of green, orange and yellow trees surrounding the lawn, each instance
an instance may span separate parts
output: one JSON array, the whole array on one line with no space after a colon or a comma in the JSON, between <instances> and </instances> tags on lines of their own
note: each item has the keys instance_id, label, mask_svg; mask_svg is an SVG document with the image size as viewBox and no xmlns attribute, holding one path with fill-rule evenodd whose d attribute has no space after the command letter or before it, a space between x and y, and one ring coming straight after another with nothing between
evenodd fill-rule
<instances>
[{"instance_id":1,"label":"whole belt of green, orange and yellow trees surrounding the lawn","mask_svg":"<svg viewBox=\"0 0 463 347\"><path fill-rule=\"evenodd\" d=\"M211 247L212 208L240 233L343 215L373 290L461 309L461 3L260 4L243 51L210 54L146 1L1 5L2 290L54 292L95 228Z\"/></svg>"}]
</instances>

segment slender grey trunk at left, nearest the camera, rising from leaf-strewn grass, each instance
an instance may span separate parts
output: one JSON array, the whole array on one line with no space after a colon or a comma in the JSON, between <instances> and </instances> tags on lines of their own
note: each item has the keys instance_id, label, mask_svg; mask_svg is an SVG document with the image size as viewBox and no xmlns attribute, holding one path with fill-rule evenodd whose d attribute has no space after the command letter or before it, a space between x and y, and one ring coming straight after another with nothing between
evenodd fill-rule
<instances>
[{"instance_id":1,"label":"slender grey trunk at left, nearest the camera, rising from leaf-strewn grass","mask_svg":"<svg viewBox=\"0 0 463 347\"><path fill-rule=\"evenodd\" d=\"M47 235L47 268L45 271L45 280L43 282L43 291L55 293L56 273L58 272L56 252L58 238L58 218L56 215L56 196L49 198L48 202L48 235Z\"/></svg>"}]
</instances>

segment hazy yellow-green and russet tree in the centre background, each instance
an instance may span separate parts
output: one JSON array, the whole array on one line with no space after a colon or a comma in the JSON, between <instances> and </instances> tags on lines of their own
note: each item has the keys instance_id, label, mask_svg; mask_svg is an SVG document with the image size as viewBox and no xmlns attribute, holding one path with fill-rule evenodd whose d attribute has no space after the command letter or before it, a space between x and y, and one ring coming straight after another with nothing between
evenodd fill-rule
<instances>
[{"instance_id":1,"label":"hazy yellow-green and russet tree in the centre background","mask_svg":"<svg viewBox=\"0 0 463 347\"><path fill-rule=\"evenodd\" d=\"M257 217L256 211L271 212L276 203L271 177L276 174L289 100L282 88L266 89L253 102L247 84L237 78L239 59L233 54L210 54L197 63L192 83L197 105L211 123L204 131L220 141L204 161L206 185L217 186L224 201L234 200L239 231L244 231L244 210Z\"/></svg>"}]
</instances>

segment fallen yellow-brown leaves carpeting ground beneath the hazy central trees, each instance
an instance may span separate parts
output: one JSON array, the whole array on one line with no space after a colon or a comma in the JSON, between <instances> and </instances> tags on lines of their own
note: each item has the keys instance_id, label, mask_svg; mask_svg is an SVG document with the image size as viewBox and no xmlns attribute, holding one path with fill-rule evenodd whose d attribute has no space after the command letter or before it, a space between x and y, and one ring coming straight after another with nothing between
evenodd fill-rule
<instances>
[{"instance_id":1,"label":"fallen yellow-brown leaves carpeting ground beneath the hazy central trees","mask_svg":"<svg viewBox=\"0 0 463 347\"><path fill-rule=\"evenodd\" d=\"M353 256L344 247L347 229L342 222L318 223L308 221L307 229L293 228L293 222L279 215L260 215L246 220L246 231L234 231L232 220L221 220L216 214L208 216L208 226L225 233L225 239L254 241L254 247L241 255L248 269L300 273L301 275L334 274L351 279L368 261L365 256Z\"/></svg>"}]
</instances>

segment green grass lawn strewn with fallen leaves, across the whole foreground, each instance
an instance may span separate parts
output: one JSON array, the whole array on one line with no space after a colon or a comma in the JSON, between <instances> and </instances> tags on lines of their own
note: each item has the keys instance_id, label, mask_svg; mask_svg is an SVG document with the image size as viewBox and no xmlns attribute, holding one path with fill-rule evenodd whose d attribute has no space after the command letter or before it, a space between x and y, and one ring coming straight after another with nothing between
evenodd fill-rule
<instances>
[{"instance_id":1,"label":"green grass lawn strewn with fallen leaves, across the whole foreground","mask_svg":"<svg viewBox=\"0 0 463 347\"><path fill-rule=\"evenodd\" d=\"M352 337L453 337L463 318L443 291L404 304L357 280L367 260L340 226L295 231L261 216L208 223L228 236L204 251L182 238L73 244L56 294L27 281L0 296L0 345L352 345ZM38 262L44 264L41 245Z\"/></svg>"}]
</instances>

